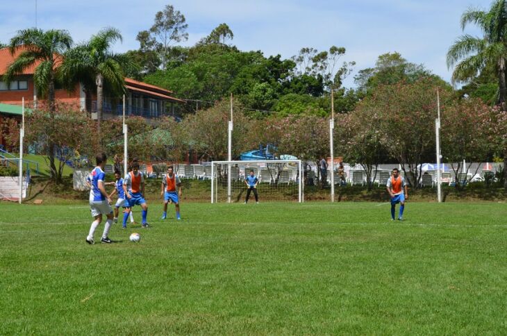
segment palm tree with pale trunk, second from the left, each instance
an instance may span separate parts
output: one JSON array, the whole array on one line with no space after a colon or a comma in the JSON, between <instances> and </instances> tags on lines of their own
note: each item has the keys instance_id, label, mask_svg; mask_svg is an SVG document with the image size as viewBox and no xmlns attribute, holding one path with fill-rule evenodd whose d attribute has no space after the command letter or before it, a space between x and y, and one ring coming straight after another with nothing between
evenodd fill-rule
<instances>
[{"instance_id":1,"label":"palm tree with pale trunk, second from the left","mask_svg":"<svg viewBox=\"0 0 507 336\"><path fill-rule=\"evenodd\" d=\"M89 42L83 43L69 50L65 54L62 64L62 76L67 83L81 81L86 90L90 86L97 87L97 128L103 112L104 84L110 91L120 93L125 91L123 69L129 64L128 59L121 54L115 54L110 48L117 40L122 41L122 35L116 28L104 28L97 35L93 35Z\"/></svg>"}]
</instances>

